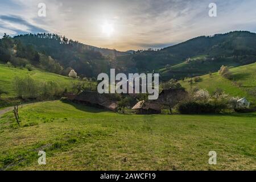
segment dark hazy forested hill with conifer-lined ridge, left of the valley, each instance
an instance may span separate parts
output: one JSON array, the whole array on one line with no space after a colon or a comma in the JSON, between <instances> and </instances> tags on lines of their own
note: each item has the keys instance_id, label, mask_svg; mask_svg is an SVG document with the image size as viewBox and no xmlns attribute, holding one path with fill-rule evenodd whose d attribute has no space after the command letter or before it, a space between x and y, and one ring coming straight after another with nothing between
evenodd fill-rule
<instances>
[{"instance_id":1,"label":"dark hazy forested hill with conifer-lined ridge, left of the valley","mask_svg":"<svg viewBox=\"0 0 256 182\"><path fill-rule=\"evenodd\" d=\"M32 45L36 51L57 60L67 72L73 68L84 77L96 77L101 72L108 72L110 59L115 56L130 55L115 49L88 46L56 34L27 34L14 37L22 44Z\"/></svg>"}]
</instances>

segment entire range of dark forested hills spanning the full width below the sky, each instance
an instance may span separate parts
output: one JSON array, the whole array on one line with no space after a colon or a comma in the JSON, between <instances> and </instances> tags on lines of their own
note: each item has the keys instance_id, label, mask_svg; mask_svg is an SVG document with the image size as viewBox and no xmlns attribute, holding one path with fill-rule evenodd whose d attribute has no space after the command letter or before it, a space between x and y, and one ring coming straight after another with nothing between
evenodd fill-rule
<instances>
[{"instance_id":1,"label":"entire range of dark forested hills spanning the full width below the sky","mask_svg":"<svg viewBox=\"0 0 256 182\"><path fill-rule=\"evenodd\" d=\"M159 72L162 80L204 75L221 65L237 67L256 60L256 34L234 31L200 36L154 51L119 52L81 44L56 34L26 34L0 39L0 61L19 67L46 69L67 76L73 68L80 77L117 72ZM30 67L30 66L28 66Z\"/></svg>"}]
</instances>

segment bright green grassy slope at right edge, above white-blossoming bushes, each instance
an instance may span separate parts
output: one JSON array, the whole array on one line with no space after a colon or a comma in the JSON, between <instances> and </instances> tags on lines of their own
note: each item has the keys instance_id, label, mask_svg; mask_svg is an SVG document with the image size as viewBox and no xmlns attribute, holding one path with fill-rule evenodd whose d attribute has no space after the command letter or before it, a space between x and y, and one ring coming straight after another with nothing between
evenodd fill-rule
<instances>
[{"instance_id":1,"label":"bright green grassy slope at right edge, above white-blossoming bushes","mask_svg":"<svg viewBox=\"0 0 256 182\"><path fill-rule=\"evenodd\" d=\"M223 78L218 73L213 73L212 78L210 78L209 75L201 76L203 80L193 84L193 88L207 88L209 92L214 92L216 88L221 88L226 93L229 93L233 96L246 97L248 100L253 102L253 104L255 104L256 97L252 94L252 92L255 92L256 89L255 71L256 63L230 69L234 80L237 82L242 82L241 88L235 86L232 83L233 80L230 81L226 78ZM180 81L180 83L188 90L190 89L188 80Z\"/></svg>"}]
</instances>

